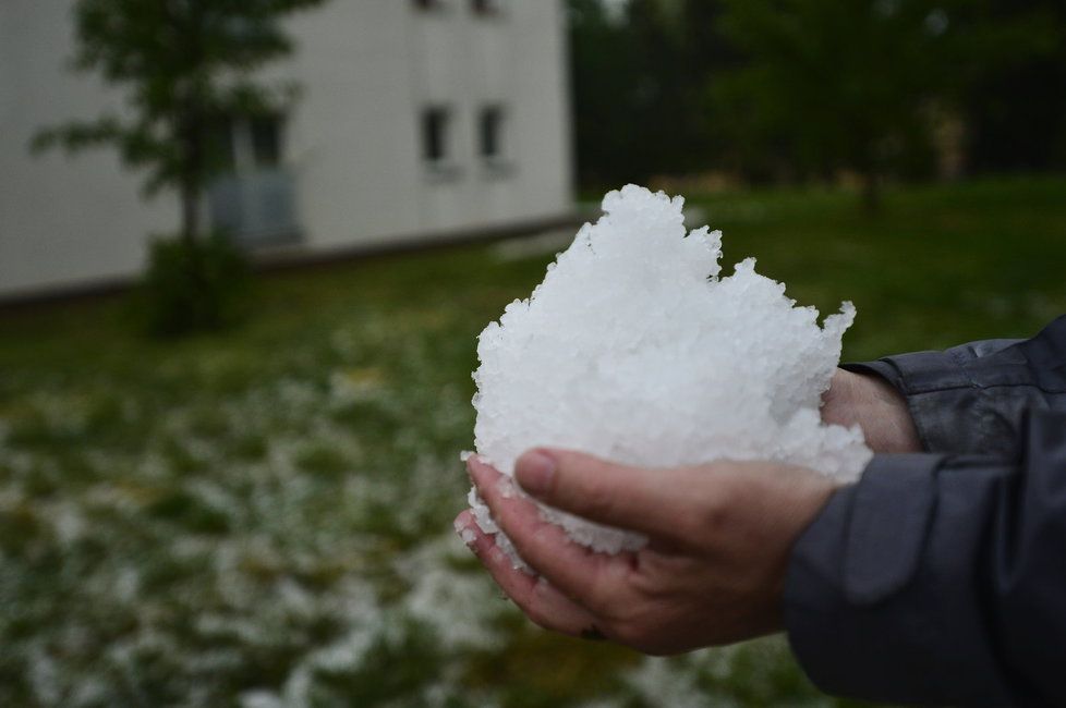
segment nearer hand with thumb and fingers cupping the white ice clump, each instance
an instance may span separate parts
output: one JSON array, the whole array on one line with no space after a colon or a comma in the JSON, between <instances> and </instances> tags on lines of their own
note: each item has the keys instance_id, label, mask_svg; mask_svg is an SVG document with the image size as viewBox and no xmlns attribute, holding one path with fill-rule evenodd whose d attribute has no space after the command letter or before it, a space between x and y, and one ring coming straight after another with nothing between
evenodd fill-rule
<instances>
[{"instance_id":1,"label":"nearer hand with thumb and fingers cupping the white ice clump","mask_svg":"<svg viewBox=\"0 0 1066 708\"><path fill-rule=\"evenodd\" d=\"M650 538L639 552L607 556L570 541L476 456L467 466L537 575L512 567L469 511L456 527L531 620L656 655L779 631L790 549L834 489L809 469L774 463L652 471L559 450L522 455L516 476L530 495Z\"/></svg>"}]
</instances>

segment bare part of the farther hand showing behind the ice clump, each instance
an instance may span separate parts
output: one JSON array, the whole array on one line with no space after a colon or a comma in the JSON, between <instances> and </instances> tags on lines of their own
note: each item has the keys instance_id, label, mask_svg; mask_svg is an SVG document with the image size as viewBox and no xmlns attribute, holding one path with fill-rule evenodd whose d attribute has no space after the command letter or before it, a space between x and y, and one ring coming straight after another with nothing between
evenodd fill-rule
<instances>
[{"instance_id":1,"label":"bare part of the farther hand showing behind the ice clump","mask_svg":"<svg viewBox=\"0 0 1066 708\"><path fill-rule=\"evenodd\" d=\"M921 452L907 402L875 374L837 369L822 396L822 420L843 426L858 424L874 452Z\"/></svg>"}]
</instances>

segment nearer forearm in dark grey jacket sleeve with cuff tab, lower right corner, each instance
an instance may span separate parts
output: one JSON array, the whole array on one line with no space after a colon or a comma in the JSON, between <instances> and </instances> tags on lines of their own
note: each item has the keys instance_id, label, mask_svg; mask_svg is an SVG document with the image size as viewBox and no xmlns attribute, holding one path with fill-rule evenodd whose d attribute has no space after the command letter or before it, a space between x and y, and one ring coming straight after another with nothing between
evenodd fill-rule
<instances>
[{"instance_id":1,"label":"nearer forearm in dark grey jacket sleeve with cuff tab, lower right corner","mask_svg":"<svg viewBox=\"0 0 1066 708\"><path fill-rule=\"evenodd\" d=\"M824 689L921 705L1066 705L1066 415L1025 461L880 455L792 551L786 624Z\"/></svg>"}]
</instances>

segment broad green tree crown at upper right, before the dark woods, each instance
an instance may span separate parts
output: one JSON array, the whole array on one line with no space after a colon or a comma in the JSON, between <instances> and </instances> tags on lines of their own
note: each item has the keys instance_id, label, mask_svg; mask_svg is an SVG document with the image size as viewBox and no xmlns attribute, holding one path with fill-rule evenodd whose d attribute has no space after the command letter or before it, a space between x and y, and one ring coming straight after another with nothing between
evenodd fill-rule
<instances>
[{"instance_id":1,"label":"broad green tree crown at upper right, before the dark woods","mask_svg":"<svg viewBox=\"0 0 1066 708\"><path fill-rule=\"evenodd\" d=\"M960 112L978 77L1052 41L1031 16L994 16L989 0L720 2L744 61L712 91L742 159L797 176L853 170L870 208L886 173L931 155L936 117Z\"/></svg>"}]
</instances>

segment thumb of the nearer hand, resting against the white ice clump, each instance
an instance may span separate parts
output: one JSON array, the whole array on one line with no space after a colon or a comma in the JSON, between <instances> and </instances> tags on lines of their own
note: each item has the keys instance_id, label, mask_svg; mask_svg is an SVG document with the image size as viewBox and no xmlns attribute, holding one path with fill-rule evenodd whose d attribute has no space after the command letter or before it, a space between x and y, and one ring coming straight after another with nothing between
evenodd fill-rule
<instances>
[{"instance_id":1,"label":"thumb of the nearer hand, resting against the white ice clump","mask_svg":"<svg viewBox=\"0 0 1066 708\"><path fill-rule=\"evenodd\" d=\"M705 471L647 469L565 450L530 450L514 465L526 492L583 518L683 542L691 537L694 479ZM702 499L701 501L707 501Z\"/></svg>"}]
</instances>

